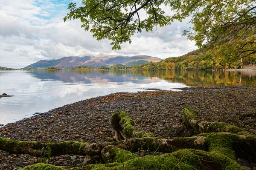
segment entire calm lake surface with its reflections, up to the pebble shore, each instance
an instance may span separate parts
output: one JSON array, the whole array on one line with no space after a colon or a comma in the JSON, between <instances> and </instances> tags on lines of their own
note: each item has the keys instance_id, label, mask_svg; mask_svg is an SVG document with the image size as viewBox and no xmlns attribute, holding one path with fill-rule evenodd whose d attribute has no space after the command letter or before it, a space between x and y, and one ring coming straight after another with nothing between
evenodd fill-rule
<instances>
[{"instance_id":1,"label":"entire calm lake surface with its reflections, up to the pebble shore","mask_svg":"<svg viewBox=\"0 0 256 170\"><path fill-rule=\"evenodd\" d=\"M256 84L256 71L0 71L0 124L87 98L146 88Z\"/></svg>"}]
</instances>

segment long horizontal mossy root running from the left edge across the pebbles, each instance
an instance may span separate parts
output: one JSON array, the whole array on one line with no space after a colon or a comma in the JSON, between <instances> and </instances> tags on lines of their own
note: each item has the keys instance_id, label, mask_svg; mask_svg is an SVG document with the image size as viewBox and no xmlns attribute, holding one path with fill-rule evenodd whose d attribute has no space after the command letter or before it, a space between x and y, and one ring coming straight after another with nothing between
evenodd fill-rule
<instances>
[{"instance_id":1,"label":"long horizontal mossy root running from the left edge across the pebbles","mask_svg":"<svg viewBox=\"0 0 256 170\"><path fill-rule=\"evenodd\" d=\"M51 156L60 156L64 154L101 156L102 149L108 145L122 148L129 151L138 149L159 151L170 153L182 148L193 148L205 150L205 137L195 136L189 138L160 139L153 137L129 138L119 142L103 143L82 143L77 141L65 141L60 143L39 143L34 141L16 141L0 137L0 150L12 154L29 154L32 156L41 156L42 148L51 148Z\"/></svg>"}]
</instances>

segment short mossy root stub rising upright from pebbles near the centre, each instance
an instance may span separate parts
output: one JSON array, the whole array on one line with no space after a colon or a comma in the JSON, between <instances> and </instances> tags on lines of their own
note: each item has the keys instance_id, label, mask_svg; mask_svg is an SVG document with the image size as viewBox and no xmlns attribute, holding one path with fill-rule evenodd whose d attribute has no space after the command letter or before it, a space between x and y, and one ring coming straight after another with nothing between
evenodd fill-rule
<instances>
[{"instance_id":1,"label":"short mossy root stub rising upright from pebbles near the centre","mask_svg":"<svg viewBox=\"0 0 256 170\"><path fill-rule=\"evenodd\" d=\"M119 124L120 121L122 121L123 126ZM134 126L134 121L132 120L132 118L122 110L114 113L111 116L111 126L116 131L116 141L122 141L132 137L154 137L153 133L144 133L139 131L137 127Z\"/></svg>"}]
</instances>

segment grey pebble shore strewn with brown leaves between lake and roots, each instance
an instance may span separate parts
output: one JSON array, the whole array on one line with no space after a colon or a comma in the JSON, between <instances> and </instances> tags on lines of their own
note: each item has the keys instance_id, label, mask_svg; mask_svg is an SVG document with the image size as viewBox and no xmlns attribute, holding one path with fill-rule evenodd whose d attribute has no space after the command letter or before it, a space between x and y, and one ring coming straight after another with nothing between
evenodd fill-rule
<instances>
[{"instance_id":1,"label":"grey pebble shore strewn with brown leaves between lake and roots","mask_svg":"<svg viewBox=\"0 0 256 170\"><path fill-rule=\"evenodd\" d=\"M231 123L237 120L239 114L251 113L256 109L256 86L184 90L122 92L87 99L7 124L0 130L0 136L20 141L106 142L105 136L114 136L111 115L122 109L134 119L139 130L154 133L160 138L173 138L191 135L189 132L183 134L180 129L175 131L180 127L179 120L186 106L198 110L205 121ZM256 127L255 123L255 119L249 118L244 121L244 128L255 133L252 128L252 125ZM28 154L0 153L0 170L17 170L42 161ZM150 153L139 151L137 154L144 156ZM90 162L90 156L64 155L51 157L47 161L62 167L79 167Z\"/></svg>"}]
</instances>

